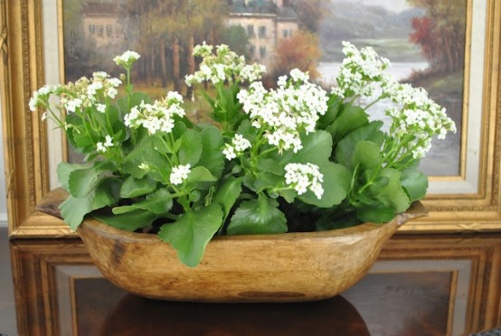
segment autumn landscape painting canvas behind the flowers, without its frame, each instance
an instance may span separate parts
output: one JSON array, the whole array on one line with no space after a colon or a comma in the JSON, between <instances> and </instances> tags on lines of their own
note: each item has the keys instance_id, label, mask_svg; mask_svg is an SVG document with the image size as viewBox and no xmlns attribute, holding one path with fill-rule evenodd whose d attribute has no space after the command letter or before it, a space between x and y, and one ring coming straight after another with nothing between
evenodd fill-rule
<instances>
[{"instance_id":1,"label":"autumn landscape painting canvas behind the flowers, without its frame","mask_svg":"<svg viewBox=\"0 0 501 336\"><path fill-rule=\"evenodd\" d=\"M467 38L467 0L64 0L65 80L104 70L111 61L137 51L136 89L164 95L193 92L184 76L193 73L196 44L228 44L249 62L267 67L272 86L298 68L325 89L335 85L343 59L342 42L371 46L392 61L393 76L423 87L457 124L458 132L434 142L421 161L424 173L460 174L461 122ZM206 117L192 106L193 117ZM371 107L384 116L385 105Z\"/></svg>"}]
</instances>

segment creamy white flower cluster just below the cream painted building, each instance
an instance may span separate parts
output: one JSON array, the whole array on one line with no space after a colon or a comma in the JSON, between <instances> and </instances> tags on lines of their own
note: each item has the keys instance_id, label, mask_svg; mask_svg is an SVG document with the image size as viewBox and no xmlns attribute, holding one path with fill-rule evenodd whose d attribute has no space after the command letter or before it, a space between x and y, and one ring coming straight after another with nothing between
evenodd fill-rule
<instances>
[{"instance_id":1,"label":"creamy white flower cluster just below the cream painted building","mask_svg":"<svg viewBox=\"0 0 501 336\"><path fill-rule=\"evenodd\" d=\"M225 44L218 45L216 54L213 54L213 46L203 42L202 45L194 47L194 56L203 57L203 61L200 63L200 70L186 76L185 82L189 87L205 80L211 81L214 85L226 80L254 81L260 79L266 71L264 65L245 64L245 58L231 51Z\"/></svg>"}]
</instances>

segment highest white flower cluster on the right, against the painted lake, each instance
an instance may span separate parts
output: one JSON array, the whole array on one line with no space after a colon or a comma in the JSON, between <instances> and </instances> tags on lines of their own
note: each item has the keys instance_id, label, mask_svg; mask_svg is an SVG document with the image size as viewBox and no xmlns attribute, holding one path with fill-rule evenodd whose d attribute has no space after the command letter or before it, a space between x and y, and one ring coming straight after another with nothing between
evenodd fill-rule
<instances>
[{"instance_id":1,"label":"highest white flower cluster on the right, against the painted lake","mask_svg":"<svg viewBox=\"0 0 501 336\"><path fill-rule=\"evenodd\" d=\"M345 59L336 77L337 87L332 93L340 98L371 97L380 88L380 83L386 81L384 72L390 61L378 54L371 47L360 51L350 42L343 42Z\"/></svg>"}]
</instances>

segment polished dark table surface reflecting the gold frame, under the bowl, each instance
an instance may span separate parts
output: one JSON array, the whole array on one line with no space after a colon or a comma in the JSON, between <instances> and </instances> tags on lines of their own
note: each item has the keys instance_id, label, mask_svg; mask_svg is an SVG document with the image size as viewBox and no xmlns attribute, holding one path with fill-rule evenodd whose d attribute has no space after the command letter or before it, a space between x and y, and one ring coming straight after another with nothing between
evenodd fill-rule
<instances>
[{"instance_id":1,"label":"polished dark table surface reflecting the gold frame, under the bowl","mask_svg":"<svg viewBox=\"0 0 501 336\"><path fill-rule=\"evenodd\" d=\"M499 234L397 235L360 283L314 303L154 301L109 284L80 239L10 248L20 335L462 335L501 326Z\"/></svg>"}]
</instances>

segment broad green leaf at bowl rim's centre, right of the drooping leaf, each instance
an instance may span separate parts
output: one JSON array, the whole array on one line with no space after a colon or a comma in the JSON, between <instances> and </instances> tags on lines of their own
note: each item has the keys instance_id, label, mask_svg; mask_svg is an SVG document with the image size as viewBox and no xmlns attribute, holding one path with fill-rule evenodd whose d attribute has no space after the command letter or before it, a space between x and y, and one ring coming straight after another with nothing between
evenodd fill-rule
<instances>
[{"instance_id":1,"label":"broad green leaf at bowl rim's centre, right of the drooping leaf","mask_svg":"<svg viewBox=\"0 0 501 336\"><path fill-rule=\"evenodd\" d=\"M279 202L260 193L258 200L243 201L228 225L229 235L270 234L288 231L287 219Z\"/></svg>"}]
</instances>

